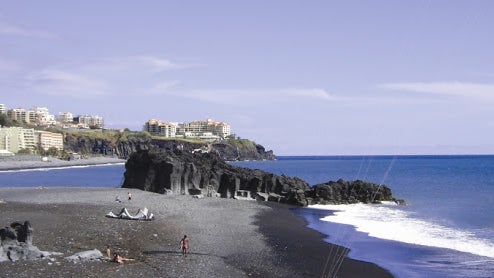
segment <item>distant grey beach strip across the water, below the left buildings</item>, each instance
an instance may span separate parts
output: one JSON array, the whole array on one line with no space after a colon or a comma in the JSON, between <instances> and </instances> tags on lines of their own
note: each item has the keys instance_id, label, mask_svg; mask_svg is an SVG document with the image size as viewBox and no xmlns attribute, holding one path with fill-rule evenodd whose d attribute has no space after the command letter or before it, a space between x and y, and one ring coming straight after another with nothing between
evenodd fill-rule
<instances>
[{"instance_id":1,"label":"distant grey beach strip across the water, below the left buildings","mask_svg":"<svg viewBox=\"0 0 494 278\"><path fill-rule=\"evenodd\" d=\"M41 156L31 156L23 158L13 156L2 157L0 159L0 171L124 164L125 161L125 159L105 156L89 157L75 160L61 160L54 157L47 157L46 160L43 160Z\"/></svg>"}]
</instances>

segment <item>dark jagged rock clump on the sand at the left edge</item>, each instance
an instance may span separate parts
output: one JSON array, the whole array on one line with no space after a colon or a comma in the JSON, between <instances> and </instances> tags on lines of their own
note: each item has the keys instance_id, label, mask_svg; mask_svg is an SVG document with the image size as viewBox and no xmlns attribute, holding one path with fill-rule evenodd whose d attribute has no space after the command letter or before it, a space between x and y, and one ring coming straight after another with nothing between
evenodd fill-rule
<instances>
[{"instance_id":1,"label":"dark jagged rock clump on the sand at the left edge","mask_svg":"<svg viewBox=\"0 0 494 278\"><path fill-rule=\"evenodd\" d=\"M41 251L32 245L32 231L29 221L13 222L10 227L0 229L0 262L36 260L62 255L58 252Z\"/></svg>"}]
</instances>

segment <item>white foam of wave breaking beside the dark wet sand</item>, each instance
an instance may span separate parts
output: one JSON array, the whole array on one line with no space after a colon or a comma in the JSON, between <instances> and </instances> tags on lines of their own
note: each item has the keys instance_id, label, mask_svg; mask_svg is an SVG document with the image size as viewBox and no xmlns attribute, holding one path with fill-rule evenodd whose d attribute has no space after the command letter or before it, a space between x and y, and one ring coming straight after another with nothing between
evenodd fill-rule
<instances>
[{"instance_id":1,"label":"white foam of wave breaking beside the dark wet sand","mask_svg":"<svg viewBox=\"0 0 494 278\"><path fill-rule=\"evenodd\" d=\"M310 208L335 211L323 221L352 225L371 237L423 246L448 248L494 258L494 242L474 233L413 217L391 203L383 205L313 205Z\"/></svg>"}]
</instances>

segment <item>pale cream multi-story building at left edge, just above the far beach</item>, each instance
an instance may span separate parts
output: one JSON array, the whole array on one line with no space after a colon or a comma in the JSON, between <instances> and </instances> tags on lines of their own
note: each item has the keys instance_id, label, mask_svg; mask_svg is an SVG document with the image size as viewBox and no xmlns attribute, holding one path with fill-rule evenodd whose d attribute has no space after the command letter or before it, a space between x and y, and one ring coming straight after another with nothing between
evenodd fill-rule
<instances>
[{"instance_id":1,"label":"pale cream multi-story building at left edge, just above the far beach","mask_svg":"<svg viewBox=\"0 0 494 278\"><path fill-rule=\"evenodd\" d=\"M17 153L22 149L34 149L34 129L23 127L0 128L0 149Z\"/></svg>"}]
</instances>

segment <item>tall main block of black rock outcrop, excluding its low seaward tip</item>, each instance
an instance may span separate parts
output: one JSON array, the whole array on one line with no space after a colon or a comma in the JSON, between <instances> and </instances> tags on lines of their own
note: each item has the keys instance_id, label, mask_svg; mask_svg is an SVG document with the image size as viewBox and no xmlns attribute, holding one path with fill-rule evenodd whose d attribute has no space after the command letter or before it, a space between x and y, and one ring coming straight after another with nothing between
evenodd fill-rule
<instances>
[{"instance_id":1,"label":"tall main block of black rock outcrop, excluding its low seaward tip","mask_svg":"<svg viewBox=\"0 0 494 278\"><path fill-rule=\"evenodd\" d=\"M255 197L258 193L279 202L306 205L298 191L309 185L298 178L261 170L234 167L214 153L148 151L133 153L125 164L122 187L157 193L219 195L224 198Z\"/></svg>"}]
</instances>

